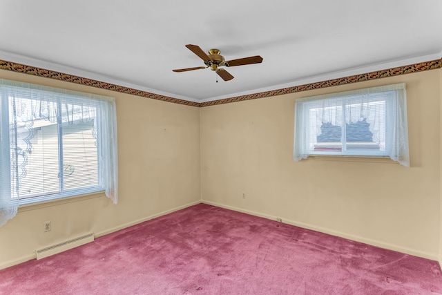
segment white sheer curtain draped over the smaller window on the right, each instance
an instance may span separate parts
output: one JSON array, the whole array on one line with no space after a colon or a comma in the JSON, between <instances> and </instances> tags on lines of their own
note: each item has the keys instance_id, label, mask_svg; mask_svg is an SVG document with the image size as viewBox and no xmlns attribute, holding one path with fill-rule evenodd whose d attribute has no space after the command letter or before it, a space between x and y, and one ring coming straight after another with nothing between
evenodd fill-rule
<instances>
[{"instance_id":1,"label":"white sheer curtain draped over the smaller window on the right","mask_svg":"<svg viewBox=\"0 0 442 295\"><path fill-rule=\"evenodd\" d=\"M410 166L403 83L297 99L294 160L311 154L324 124L344 126L356 122L369 124L374 142L385 155Z\"/></svg>"}]
</instances>

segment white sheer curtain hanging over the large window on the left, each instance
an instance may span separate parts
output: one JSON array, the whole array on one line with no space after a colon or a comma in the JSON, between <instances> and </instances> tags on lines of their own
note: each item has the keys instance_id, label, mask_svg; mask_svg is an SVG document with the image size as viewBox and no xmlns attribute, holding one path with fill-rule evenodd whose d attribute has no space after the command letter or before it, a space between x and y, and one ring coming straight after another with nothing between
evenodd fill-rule
<instances>
[{"instance_id":1,"label":"white sheer curtain hanging over the large window on the left","mask_svg":"<svg viewBox=\"0 0 442 295\"><path fill-rule=\"evenodd\" d=\"M0 99L0 227L17 213L18 188L26 177L31 140L42 124L93 126L90 128L94 134L90 137L96 138L98 182L106 196L117 203L117 122L113 97L0 79Z\"/></svg>"}]
</instances>

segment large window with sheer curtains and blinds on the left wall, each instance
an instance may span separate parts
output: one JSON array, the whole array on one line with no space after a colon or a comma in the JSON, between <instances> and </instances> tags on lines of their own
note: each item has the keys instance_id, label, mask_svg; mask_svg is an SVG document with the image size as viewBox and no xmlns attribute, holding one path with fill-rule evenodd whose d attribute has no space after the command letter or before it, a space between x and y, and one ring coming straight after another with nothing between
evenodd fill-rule
<instances>
[{"instance_id":1,"label":"large window with sheer curtains and blinds on the left wall","mask_svg":"<svg viewBox=\"0 0 442 295\"><path fill-rule=\"evenodd\" d=\"M0 99L0 226L18 204L97 191L117 202L113 97L0 79Z\"/></svg>"}]
</instances>

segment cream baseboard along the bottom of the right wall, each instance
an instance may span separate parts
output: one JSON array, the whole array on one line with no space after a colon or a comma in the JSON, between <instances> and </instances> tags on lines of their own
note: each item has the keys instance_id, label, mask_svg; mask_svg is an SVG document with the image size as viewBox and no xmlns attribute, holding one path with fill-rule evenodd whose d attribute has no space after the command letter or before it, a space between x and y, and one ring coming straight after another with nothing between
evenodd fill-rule
<instances>
[{"instance_id":1,"label":"cream baseboard along the bottom of the right wall","mask_svg":"<svg viewBox=\"0 0 442 295\"><path fill-rule=\"evenodd\" d=\"M237 207L233 207L233 206L227 206L227 205L224 205L224 204L220 204L220 203L217 203L217 202L210 202L210 201L206 201L206 200L202 200L201 202L204 203L204 204L209 204L209 205L215 206L215 207L221 207L221 208L224 208L224 209L229 209L229 210L233 210L233 211L247 213L247 214L250 214L250 215L253 215L253 216L267 218L267 219L270 219L270 220L277 220L276 216L270 216L270 215L264 214L264 213L259 213L259 212L255 212L255 211L241 209L241 208L237 208ZM324 227L316 227L314 225L308 225L306 223L296 222L294 220L282 220L282 222L287 223L287 225L294 225L296 227L302 227L304 229L311 229L313 231L320 231L321 233L324 233L324 234L329 234L329 235L332 235L332 236L338 236L340 238L347 238L349 240L355 240L356 242L363 242L365 244L376 246L376 247L381 247L383 249L389 249L389 250L393 250L393 251L398 251L398 252L401 252L401 253L404 253L404 254L410 254L410 255L413 255L413 256L427 258L427 259L430 259L430 260L436 260L436 261L439 261L439 264L442 265L442 260L439 258L439 256L436 256L436 255L430 254L430 253L426 253L426 252L423 252L423 251L419 251L419 250L416 250L416 249L410 249L410 248L407 248L407 247L401 247L401 246L398 246L398 245L393 245L393 244L390 244L390 243L387 243L387 242L381 242L381 241L378 241L378 240L372 240L372 239L364 238L364 237L361 237L361 236L354 236L352 234L345 234L345 233L340 232L340 231L334 231L333 229L326 229Z\"/></svg>"}]
</instances>

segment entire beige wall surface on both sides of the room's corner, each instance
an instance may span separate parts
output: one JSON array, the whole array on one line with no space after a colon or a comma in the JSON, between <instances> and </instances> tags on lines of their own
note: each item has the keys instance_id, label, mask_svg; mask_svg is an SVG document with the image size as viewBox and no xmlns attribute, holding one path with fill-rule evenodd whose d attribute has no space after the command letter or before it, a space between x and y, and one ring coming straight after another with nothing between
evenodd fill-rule
<instances>
[{"instance_id":1,"label":"entire beige wall surface on both sides of the room's corner","mask_svg":"<svg viewBox=\"0 0 442 295\"><path fill-rule=\"evenodd\" d=\"M119 204L98 194L19 209L0 227L0 269L34 258L35 249L201 198L442 261L441 69L205 108L5 70L0 78L116 97L119 153ZM410 168L391 160L293 162L296 98L398 82L407 84ZM44 233L46 220L52 231Z\"/></svg>"}]
</instances>

